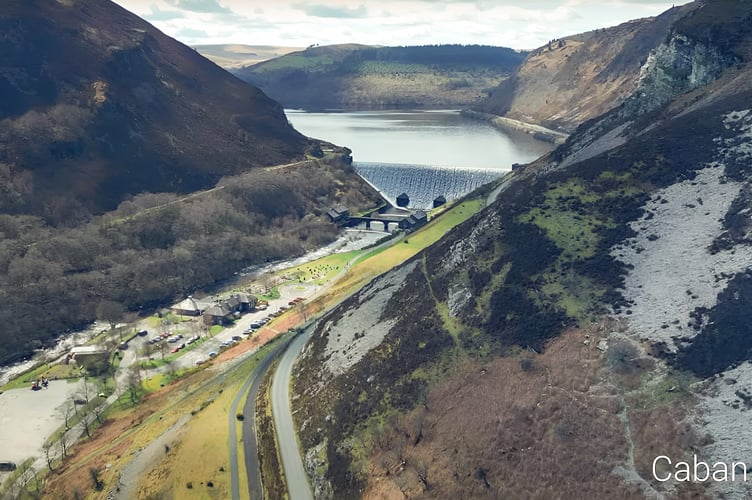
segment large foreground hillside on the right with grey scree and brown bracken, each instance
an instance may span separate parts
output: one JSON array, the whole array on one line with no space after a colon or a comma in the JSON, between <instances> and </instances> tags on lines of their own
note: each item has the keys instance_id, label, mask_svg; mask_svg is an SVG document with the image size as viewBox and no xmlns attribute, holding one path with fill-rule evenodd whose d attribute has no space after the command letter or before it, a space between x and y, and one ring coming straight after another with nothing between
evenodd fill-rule
<instances>
[{"instance_id":1,"label":"large foreground hillside on the right with grey scree and brown bracken","mask_svg":"<svg viewBox=\"0 0 752 500\"><path fill-rule=\"evenodd\" d=\"M672 15L622 105L318 323L320 497L752 494L752 6ZM693 456L728 481L673 474Z\"/></svg>"}]
</instances>

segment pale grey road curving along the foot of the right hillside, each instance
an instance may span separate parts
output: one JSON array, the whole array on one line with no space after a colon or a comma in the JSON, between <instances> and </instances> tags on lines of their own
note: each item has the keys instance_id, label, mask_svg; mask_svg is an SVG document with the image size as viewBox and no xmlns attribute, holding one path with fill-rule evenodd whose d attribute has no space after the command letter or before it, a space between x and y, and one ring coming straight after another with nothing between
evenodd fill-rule
<instances>
[{"instance_id":1,"label":"pale grey road curving along the foot of the right hillside","mask_svg":"<svg viewBox=\"0 0 752 500\"><path fill-rule=\"evenodd\" d=\"M290 376L292 365L305 346L311 334L311 328L290 342L290 347L282 355L272 382L272 413L277 429L277 444L282 455L282 467L287 480L287 491L291 500L313 500L308 475L300 456L297 433L290 412Z\"/></svg>"}]
</instances>

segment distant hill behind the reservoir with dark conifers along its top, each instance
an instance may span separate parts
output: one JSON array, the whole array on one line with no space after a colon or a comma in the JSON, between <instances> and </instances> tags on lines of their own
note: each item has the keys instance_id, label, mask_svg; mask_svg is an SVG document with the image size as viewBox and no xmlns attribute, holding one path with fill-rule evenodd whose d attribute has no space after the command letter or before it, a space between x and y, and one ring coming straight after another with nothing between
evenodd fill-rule
<instances>
[{"instance_id":1,"label":"distant hill behind the reservoir with dark conifers along its top","mask_svg":"<svg viewBox=\"0 0 752 500\"><path fill-rule=\"evenodd\" d=\"M235 73L287 108L458 107L487 95L524 56L508 48L477 45L329 45Z\"/></svg>"}]
</instances>

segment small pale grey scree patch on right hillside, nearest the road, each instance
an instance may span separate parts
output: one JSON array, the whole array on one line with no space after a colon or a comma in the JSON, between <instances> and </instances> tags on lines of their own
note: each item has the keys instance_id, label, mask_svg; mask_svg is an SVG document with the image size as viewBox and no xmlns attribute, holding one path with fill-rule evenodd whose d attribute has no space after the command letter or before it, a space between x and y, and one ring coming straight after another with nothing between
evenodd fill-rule
<instances>
[{"instance_id":1,"label":"small pale grey scree patch on right hillside, nearest the road","mask_svg":"<svg viewBox=\"0 0 752 500\"><path fill-rule=\"evenodd\" d=\"M327 324L324 366L337 376L345 373L384 340L396 320L381 321L391 296L415 269L416 261L377 278L358 296L357 309L350 309L336 322Z\"/></svg>"}]
</instances>

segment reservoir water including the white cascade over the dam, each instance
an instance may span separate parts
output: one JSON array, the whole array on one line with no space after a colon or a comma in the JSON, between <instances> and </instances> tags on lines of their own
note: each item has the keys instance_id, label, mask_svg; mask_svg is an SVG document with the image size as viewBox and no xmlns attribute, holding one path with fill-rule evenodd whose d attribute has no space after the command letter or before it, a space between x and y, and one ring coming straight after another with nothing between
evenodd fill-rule
<instances>
[{"instance_id":1,"label":"reservoir water including the white cascade over the dam","mask_svg":"<svg viewBox=\"0 0 752 500\"><path fill-rule=\"evenodd\" d=\"M553 147L457 110L285 112L301 133L350 148L364 179L392 203L407 193L411 208L458 198Z\"/></svg>"}]
</instances>

